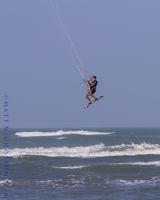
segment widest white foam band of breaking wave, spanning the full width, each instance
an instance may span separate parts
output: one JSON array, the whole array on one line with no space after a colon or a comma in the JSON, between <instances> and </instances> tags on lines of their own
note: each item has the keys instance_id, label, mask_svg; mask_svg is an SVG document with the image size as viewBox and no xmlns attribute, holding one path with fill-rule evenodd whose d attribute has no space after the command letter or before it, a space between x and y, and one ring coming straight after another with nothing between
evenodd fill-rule
<instances>
[{"instance_id":1,"label":"widest white foam band of breaking wave, spanning the full width","mask_svg":"<svg viewBox=\"0 0 160 200\"><path fill-rule=\"evenodd\" d=\"M160 155L158 144L121 144L105 146L102 144L77 147L35 147L8 149L7 156L48 156L48 157L107 157L107 156L135 156L135 155ZM4 149L0 150L0 156L4 156Z\"/></svg>"}]
</instances>

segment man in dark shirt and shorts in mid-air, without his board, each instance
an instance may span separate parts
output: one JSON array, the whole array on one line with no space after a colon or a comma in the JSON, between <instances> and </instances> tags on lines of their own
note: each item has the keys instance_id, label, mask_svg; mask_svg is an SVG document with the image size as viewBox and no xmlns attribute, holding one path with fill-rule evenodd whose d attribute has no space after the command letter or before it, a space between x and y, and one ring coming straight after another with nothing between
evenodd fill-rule
<instances>
[{"instance_id":1,"label":"man in dark shirt and shorts in mid-air, without his board","mask_svg":"<svg viewBox=\"0 0 160 200\"><path fill-rule=\"evenodd\" d=\"M98 84L98 81L96 80L96 76L92 76L92 80L89 80L88 81L88 84L87 82L84 80L84 83L86 84L87 87L90 88L89 92L85 95L85 97L88 99L89 101L89 104L92 104L93 102L91 101L91 99L89 98L89 96L93 97L96 101L97 98L93 95L95 92L96 92L96 86Z\"/></svg>"}]
</instances>

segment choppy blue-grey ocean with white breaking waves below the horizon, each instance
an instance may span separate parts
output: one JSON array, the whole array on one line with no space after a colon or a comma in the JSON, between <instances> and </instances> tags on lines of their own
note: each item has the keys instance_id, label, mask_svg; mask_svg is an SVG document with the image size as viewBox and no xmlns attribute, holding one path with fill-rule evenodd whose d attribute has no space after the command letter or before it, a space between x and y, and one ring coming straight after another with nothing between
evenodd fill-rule
<instances>
[{"instance_id":1,"label":"choppy blue-grey ocean with white breaking waves below the horizon","mask_svg":"<svg viewBox=\"0 0 160 200\"><path fill-rule=\"evenodd\" d=\"M160 199L160 128L7 131L0 199Z\"/></svg>"}]
</instances>

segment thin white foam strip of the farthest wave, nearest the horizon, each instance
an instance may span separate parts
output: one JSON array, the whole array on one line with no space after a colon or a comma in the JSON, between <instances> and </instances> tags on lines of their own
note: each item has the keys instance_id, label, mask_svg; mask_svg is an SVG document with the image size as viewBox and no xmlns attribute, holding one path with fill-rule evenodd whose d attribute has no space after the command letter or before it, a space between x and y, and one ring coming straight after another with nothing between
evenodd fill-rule
<instances>
[{"instance_id":1,"label":"thin white foam strip of the farthest wave, nearest the horizon","mask_svg":"<svg viewBox=\"0 0 160 200\"><path fill-rule=\"evenodd\" d=\"M77 131L55 131L55 132L39 132L39 131L33 131L33 132L17 132L15 135L19 137L44 137L44 136L61 136L61 135L109 135L114 132L96 132L96 131L84 131L84 130L77 130Z\"/></svg>"}]
</instances>

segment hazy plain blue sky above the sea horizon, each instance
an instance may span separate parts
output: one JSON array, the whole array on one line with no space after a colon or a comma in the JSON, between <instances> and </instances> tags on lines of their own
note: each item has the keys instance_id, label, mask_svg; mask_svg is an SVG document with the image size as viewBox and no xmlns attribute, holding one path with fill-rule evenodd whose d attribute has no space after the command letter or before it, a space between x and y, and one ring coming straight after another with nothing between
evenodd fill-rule
<instances>
[{"instance_id":1,"label":"hazy plain blue sky above the sea horizon","mask_svg":"<svg viewBox=\"0 0 160 200\"><path fill-rule=\"evenodd\" d=\"M87 87L48 3L0 0L0 107L10 127L160 125L160 1L58 0L102 100Z\"/></svg>"}]
</instances>

